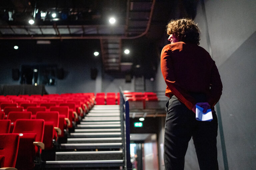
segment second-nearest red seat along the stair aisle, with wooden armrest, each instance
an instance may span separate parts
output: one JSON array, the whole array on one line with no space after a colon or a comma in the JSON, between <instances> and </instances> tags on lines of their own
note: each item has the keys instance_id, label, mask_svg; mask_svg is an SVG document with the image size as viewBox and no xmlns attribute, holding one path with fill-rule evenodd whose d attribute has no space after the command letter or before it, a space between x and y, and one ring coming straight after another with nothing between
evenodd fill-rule
<instances>
[{"instance_id":1,"label":"second-nearest red seat along the stair aisle, with wooden armrest","mask_svg":"<svg viewBox=\"0 0 256 170\"><path fill-rule=\"evenodd\" d=\"M18 119L13 133L20 133L20 143L16 166L18 170L31 170L35 166L35 157L39 157L40 149L44 149L44 120ZM40 149L38 149L38 147Z\"/></svg>"}]
</instances>

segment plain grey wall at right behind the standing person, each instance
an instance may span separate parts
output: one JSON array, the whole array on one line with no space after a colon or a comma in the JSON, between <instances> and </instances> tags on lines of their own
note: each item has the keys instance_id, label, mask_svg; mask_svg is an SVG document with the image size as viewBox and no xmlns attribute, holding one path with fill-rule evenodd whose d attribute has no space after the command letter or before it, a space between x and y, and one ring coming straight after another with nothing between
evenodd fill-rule
<instances>
[{"instance_id":1,"label":"plain grey wall at right behind the standing person","mask_svg":"<svg viewBox=\"0 0 256 170\"><path fill-rule=\"evenodd\" d=\"M195 18L201 28L200 46L212 54L223 83L217 113L222 120L217 140L219 168L224 169L220 140L223 128L228 168L253 170L256 168L256 1L204 3L205 12L199 1ZM160 65L156 77L157 90L165 89ZM192 141L185 161L186 170L199 169Z\"/></svg>"}]
</instances>

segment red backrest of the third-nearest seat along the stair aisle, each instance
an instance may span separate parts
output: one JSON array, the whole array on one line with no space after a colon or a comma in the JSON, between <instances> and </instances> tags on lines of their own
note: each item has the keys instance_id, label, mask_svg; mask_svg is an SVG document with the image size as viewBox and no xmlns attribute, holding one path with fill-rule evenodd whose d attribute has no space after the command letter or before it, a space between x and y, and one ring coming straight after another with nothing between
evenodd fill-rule
<instances>
[{"instance_id":1,"label":"red backrest of the third-nearest seat along the stair aisle","mask_svg":"<svg viewBox=\"0 0 256 170\"><path fill-rule=\"evenodd\" d=\"M45 122L53 122L54 127L59 127L59 112L57 111L37 112L36 119L43 119Z\"/></svg>"}]
</instances>

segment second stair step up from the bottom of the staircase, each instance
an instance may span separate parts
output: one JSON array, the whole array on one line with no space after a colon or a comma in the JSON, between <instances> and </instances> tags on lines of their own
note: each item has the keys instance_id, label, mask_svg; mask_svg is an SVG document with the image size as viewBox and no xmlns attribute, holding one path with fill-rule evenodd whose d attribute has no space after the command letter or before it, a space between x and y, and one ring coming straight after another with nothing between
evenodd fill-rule
<instances>
[{"instance_id":1,"label":"second stair step up from the bottom of the staircase","mask_svg":"<svg viewBox=\"0 0 256 170\"><path fill-rule=\"evenodd\" d=\"M121 160L123 151L73 151L56 152L56 161L79 161L79 160Z\"/></svg>"}]
</instances>

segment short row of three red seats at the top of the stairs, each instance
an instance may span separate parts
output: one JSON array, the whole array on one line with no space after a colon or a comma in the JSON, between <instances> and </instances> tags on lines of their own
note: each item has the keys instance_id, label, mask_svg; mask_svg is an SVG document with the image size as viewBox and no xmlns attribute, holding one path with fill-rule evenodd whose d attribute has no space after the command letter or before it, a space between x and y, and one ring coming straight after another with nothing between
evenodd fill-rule
<instances>
[{"instance_id":1,"label":"short row of three red seats at the top of the stairs","mask_svg":"<svg viewBox=\"0 0 256 170\"><path fill-rule=\"evenodd\" d=\"M120 93L97 93L96 94L96 105L119 105L120 103Z\"/></svg>"}]
</instances>

